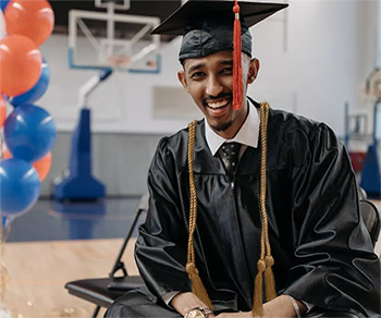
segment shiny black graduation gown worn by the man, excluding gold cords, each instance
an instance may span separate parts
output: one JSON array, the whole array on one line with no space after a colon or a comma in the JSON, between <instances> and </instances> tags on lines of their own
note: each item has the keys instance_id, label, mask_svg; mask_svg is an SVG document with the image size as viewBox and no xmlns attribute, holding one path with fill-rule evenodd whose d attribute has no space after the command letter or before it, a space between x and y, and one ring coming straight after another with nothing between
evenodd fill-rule
<instances>
[{"instance_id":1,"label":"shiny black graduation gown worn by the man, excluding gold cords","mask_svg":"<svg viewBox=\"0 0 381 318\"><path fill-rule=\"evenodd\" d=\"M185 272L189 186L187 130L152 160L150 207L135 257L150 292L190 291ZM217 308L250 310L260 253L260 146L247 147L234 186L196 126L196 265ZM322 123L270 110L267 212L276 290L327 310L380 314L380 261L359 216L348 156Z\"/></svg>"}]
</instances>

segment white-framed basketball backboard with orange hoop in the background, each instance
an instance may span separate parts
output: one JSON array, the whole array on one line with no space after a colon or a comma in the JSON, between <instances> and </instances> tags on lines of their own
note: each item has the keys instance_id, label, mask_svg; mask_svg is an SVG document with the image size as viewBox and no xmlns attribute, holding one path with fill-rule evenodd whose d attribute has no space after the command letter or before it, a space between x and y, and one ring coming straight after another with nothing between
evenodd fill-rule
<instances>
[{"instance_id":1,"label":"white-framed basketball backboard with orange hoop in the background","mask_svg":"<svg viewBox=\"0 0 381 318\"><path fill-rule=\"evenodd\" d=\"M160 72L160 37L150 35L160 24L155 16L115 13L130 2L96 0L107 12L69 12L69 65L72 69L116 69L138 73Z\"/></svg>"}]
</instances>

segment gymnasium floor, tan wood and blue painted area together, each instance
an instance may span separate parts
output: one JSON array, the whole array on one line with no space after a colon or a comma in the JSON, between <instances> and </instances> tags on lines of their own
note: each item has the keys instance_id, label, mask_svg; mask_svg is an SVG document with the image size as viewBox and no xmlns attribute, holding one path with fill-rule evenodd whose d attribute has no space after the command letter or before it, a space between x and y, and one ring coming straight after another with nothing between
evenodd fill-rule
<instances>
[{"instance_id":1,"label":"gymnasium floor, tan wood and blue painted area together","mask_svg":"<svg viewBox=\"0 0 381 318\"><path fill-rule=\"evenodd\" d=\"M138 201L139 197L66 205L39 200L13 222L1 250L8 272L2 273L0 309L5 306L16 318L90 317L94 305L69 295L63 286L76 279L107 277ZM376 204L381 208L381 201ZM137 274L134 242L123 258L131 274Z\"/></svg>"}]
</instances>

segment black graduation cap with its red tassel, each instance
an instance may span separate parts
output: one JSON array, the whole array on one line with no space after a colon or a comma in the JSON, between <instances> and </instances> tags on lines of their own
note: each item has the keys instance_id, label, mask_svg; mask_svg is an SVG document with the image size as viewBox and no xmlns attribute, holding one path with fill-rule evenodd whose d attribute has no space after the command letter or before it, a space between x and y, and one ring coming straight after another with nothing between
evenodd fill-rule
<instances>
[{"instance_id":1,"label":"black graduation cap with its red tassel","mask_svg":"<svg viewBox=\"0 0 381 318\"><path fill-rule=\"evenodd\" d=\"M248 28L287 5L236 0L188 0L152 34L183 35L179 53L181 61L233 50L233 107L239 109L243 102L241 52L251 56Z\"/></svg>"}]
</instances>

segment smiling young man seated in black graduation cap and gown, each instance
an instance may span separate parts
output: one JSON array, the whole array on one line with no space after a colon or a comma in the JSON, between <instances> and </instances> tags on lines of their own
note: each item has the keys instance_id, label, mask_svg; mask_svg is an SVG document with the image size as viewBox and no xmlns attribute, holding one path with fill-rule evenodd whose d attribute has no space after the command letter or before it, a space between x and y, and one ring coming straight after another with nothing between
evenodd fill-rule
<instances>
[{"instance_id":1,"label":"smiling young man seated in black graduation cap and gown","mask_svg":"<svg viewBox=\"0 0 381 318\"><path fill-rule=\"evenodd\" d=\"M248 27L285 5L243 2L241 16L232 7L189 0L157 28L183 34L179 80L205 119L160 142L135 250L147 289L106 316L379 316L380 262L342 144L322 123L246 97L259 71Z\"/></svg>"}]
</instances>

